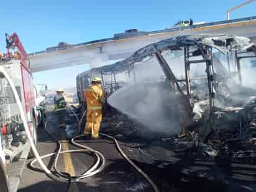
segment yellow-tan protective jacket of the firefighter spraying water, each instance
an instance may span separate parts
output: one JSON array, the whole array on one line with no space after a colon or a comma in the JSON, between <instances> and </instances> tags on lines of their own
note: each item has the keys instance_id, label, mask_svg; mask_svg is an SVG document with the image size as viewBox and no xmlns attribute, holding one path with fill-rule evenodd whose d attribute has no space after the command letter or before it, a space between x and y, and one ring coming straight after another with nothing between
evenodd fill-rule
<instances>
[{"instance_id":1,"label":"yellow-tan protective jacket of the firefighter spraying water","mask_svg":"<svg viewBox=\"0 0 256 192\"><path fill-rule=\"evenodd\" d=\"M92 85L89 89L86 89L85 99L87 109L102 109L105 98L101 85Z\"/></svg>"}]
</instances>

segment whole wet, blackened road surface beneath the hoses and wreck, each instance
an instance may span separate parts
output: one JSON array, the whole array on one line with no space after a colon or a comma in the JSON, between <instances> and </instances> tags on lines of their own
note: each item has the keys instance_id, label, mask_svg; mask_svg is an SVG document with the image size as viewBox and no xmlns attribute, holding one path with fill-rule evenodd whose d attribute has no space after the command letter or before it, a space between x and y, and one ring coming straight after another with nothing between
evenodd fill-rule
<instances>
[{"instance_id":1,"label":"whole wet, blackened road surface beneath the hoses and wreck","mask_svg":"<svg viewBox=\"0 0 256 192\"><path fill-rule=\"evenodd\" d=\"M63 150L77 149L66 139L76 130L58 129L53 113L53 121L49 130L62 140ZM114 129L101 131L114 135ZM144 140L138 137L127 137L118 132L115 135L121 141L124 152L144 170L158 185L160 191L256 191L256 165L255 163L231 163L226 160L194 157L193 153L177 153L173 149L171 139ZM38 129L39 143L37 149L40 155L54 152L55 142L46 134L44 129ZM99 137L98 140L79 140L81 144L88 145L103 153L106 158L104 170L97 175L80 180L71 185L70 191L153 191L149 182L145 180L129 163L121 157L112 140ZM65 191L66 184L53 181L44 173L25 168L19 192L29 191ZM52 167L53 158L44 160L48 167ZM71 153L60 155L58 169L68 171L71 175L79 174L93 165L94 158L85 153Z\"/></svg>"}]
</instances>

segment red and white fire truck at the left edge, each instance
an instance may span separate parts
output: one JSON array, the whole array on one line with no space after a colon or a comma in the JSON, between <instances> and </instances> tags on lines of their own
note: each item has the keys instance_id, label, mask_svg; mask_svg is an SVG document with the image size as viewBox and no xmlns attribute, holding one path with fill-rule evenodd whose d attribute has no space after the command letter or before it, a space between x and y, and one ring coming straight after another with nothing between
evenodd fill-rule
<instances>
[{"instance_id":1,"label":"red and white fire truck at the left edge","mask_svg":"<svg viewBox=\"0 0 256 192\"><path fill-rule=\"evenodd\" d=\"M6 48L7 53L0 53L0 66L16 86L36 144L37 109L28 56L16 33L6 34ZM17 190L25 161L32 156L14 94L6 78L0 74L0 192Z\"/></svg>"}]
</instances>

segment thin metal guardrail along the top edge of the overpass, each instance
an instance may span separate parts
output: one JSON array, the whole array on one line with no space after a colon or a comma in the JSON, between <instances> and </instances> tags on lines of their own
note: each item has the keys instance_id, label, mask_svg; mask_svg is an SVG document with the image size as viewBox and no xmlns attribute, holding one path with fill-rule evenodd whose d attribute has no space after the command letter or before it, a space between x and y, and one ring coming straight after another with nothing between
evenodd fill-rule
<instances>
[{"instance_id":1,"label":"thin metal guardrail along the top edge of the overpass","mask_svg":"<svg viewBox=\"0 0 256 192\"><path fill-rule=\"evenodd\" d=\"M131 37L138 37L138 36L147 36L147 35L151 35L151 34L161 34L161 33L167 33L167 32L174 32L174 31L179 31L179 30L184 30L184 29L196 29L196 28L200 28L200 27L209 27L209 26L214 26L214 25L224 25L224 24L232 24L232 23L237 23L237 22L245 22L245 21L252 21L252 20L256 20L256 16L253 17L244 17L244 18L240 18L240 19L231 19L231 20L226 20L226 21L217 21L217 22L208 22L206 24L198 24L198 25L191 25L191 26L187 26L187 27L176 27L176 28L170 28L170 29L163 29L163 30L153 30L150 32L146 32L147 34L145 34L145 31L143 32L144 35L140 35L139 32L137 34L134 35L127 35L128 37L122 37L120 39L129 39ZM110 38L105 38L105 39L98 39L98 40L91 40L89 42L83 42L83 43L78 43L75 45L68 45L66 47L50 47L50 50L43 50L40 52L34 52L34 53L29 53L29 56L32 55L40 55L42 53L49 53L49 52L57 52L58 50L65 50L65 49L69 49L69 48L74 48L74 47L81 47L81 46L85 46L85 45L92 45L95 43L104 43L104 42L109 42L112 40L118 40L118 37L110 37Z\"/></svg>"}]
</instances>

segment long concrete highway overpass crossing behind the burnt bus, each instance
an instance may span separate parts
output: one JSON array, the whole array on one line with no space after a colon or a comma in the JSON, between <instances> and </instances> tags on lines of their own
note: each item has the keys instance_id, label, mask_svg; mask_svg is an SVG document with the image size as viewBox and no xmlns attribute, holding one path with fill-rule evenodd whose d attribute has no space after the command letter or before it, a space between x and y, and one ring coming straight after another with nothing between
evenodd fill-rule
<instances>
[{"instance_id":1,"label":"long concrete highway overpass crossing behind the burnt bus","mask_svg":"<svg viewBox=\"0 0 256 192\"><path fill-rule=\"evenodd\" d=\"M135 32L120 37L117 34L107 39L46 48L42 52L29 54L30 68L32 72L36 72L82 64L89 64L91 67L106 65L109 60L129 57L135 50L149 43L188 34L240 35L250 37L256 43L256 16L151 32Z\"/></svg>"}]
</instances>

